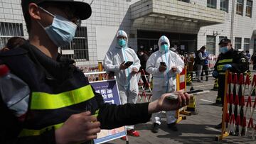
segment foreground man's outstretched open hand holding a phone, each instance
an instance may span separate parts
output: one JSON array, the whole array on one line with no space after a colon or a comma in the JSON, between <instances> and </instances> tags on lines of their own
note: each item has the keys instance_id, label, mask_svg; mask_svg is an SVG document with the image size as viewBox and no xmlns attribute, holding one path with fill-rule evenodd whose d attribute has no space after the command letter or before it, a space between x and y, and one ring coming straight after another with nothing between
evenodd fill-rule
<instances>
[{"instance_id":1,"label":"foreground man's outstretched open hand holding a phone","mask_svg":"<svg viewBox=\"0 0 256 144\"><path fill-rule=\"evenodd\" d=\"M177 91L176 95L178 96L176 100L166 99L167 96L170 96L170 93L161 95L159 99L149 103L149 113L177 110L188 105L190 96L187 93L183 94L183 92Z\"/></svg>"}]
</instances>

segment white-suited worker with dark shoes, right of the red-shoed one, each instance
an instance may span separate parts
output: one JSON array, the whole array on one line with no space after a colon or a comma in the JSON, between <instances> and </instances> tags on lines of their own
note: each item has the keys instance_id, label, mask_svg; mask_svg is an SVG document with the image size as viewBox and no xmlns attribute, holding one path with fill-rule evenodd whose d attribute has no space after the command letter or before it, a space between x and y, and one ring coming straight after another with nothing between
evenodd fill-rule
<instances>
[{"instance_id":1,"label":"white-suited worker with dark shoes, right of the red-shoed one","mask_svg":"<svg viewBox=\"0 0 256 144\"><path fill-rule=\"evenodd\" d=\"M159 99L161 94L176 91L176 74L181 73L184 62L181 57L169 50L170 42L166 36L161 36L158 42L159 50L154 52L146 62L146 72L153 75L152 101ZM168 127L172 131L178 131L176 128L176 111L166 111ZM158 133L161 124L161 113L153 113L152 132Z\"/></svg>"}]
</instances>

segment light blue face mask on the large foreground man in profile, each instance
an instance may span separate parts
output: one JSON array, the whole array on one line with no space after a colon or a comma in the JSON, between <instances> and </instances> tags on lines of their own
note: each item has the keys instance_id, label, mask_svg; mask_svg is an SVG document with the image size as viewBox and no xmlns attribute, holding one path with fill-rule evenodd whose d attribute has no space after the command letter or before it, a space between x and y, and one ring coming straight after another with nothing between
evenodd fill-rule
<instances>
[{"instance_id":1,"label":"light blue face mask on the large foreground man in profile","mask_svg":"<svg viewBox=\"0 0 256 144\"><path fill-rule=\"evenodd\" d=\"M46 11L43 8L41 9ZM54 16L48 11L46 11L46 13L50 14L50 16L53 16L53 23L46 28L44 28L41 23L38 23L44 28L48 37L56 46L60 47L68 45L75 37L75 31L77 28L75 23L69 21L66 18L63 18L62 16Z\"/></svg>"}]
</instances>

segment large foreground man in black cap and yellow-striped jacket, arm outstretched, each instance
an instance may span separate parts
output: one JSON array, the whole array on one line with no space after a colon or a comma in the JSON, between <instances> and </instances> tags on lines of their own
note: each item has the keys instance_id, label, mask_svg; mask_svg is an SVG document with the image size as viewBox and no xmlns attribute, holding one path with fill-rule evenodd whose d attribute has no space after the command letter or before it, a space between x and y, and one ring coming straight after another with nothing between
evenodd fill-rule
<instances>
[{"instance_id":1,"label":"large foreground man in black cap and yellow-striped jacket, arm outstretched","mask_svg":"<svg viewBox=\"0 0 256 144\"><path fill-rule=\"evenodd\" d=\"M145 104L104 104L87 77L62 61L58 47L73 40L80 20L91 15L90 5L73 0L22 0L29 40L0 53L24 89L5 94L0 86L0 143L93 143L101 128L111 129L149 121L151 113L178 109L189 100L177 92L178 101L160 99ZM1 76L4 77L4 76ZM0 77L0 81L1 81Z\"/></svg>"}]
</instances>

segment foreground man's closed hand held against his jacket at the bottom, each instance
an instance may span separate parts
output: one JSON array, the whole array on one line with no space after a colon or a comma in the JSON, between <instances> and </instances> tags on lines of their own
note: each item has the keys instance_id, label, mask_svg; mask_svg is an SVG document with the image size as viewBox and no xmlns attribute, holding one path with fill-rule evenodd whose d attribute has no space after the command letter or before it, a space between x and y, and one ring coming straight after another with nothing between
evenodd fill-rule
<instances>
[{"instance_id":1,"label":"foreground man's closed hand held against his jacket at the bottom","mask_svg":"<svg viewBox=\"0 0 256 144\"><path fill-rule=\"evenodd\" d=\"M63 126L55 131L56 143L81 143L97 138L100 122L90 111L73 114Z\"/></svg>"}]
</instances>

